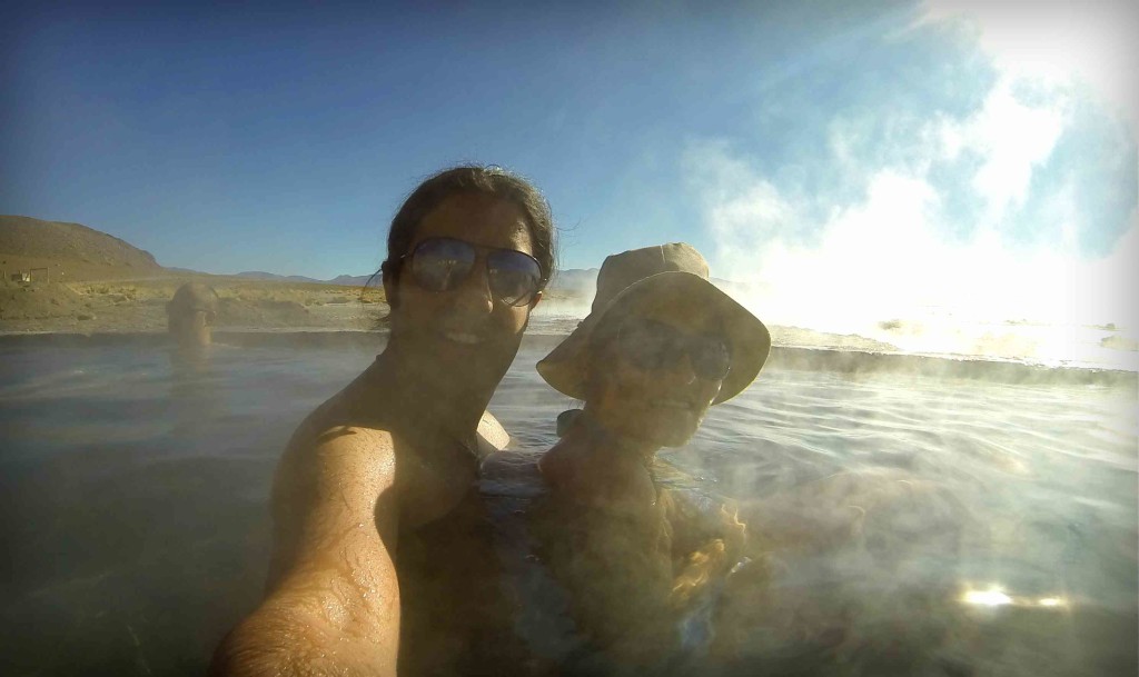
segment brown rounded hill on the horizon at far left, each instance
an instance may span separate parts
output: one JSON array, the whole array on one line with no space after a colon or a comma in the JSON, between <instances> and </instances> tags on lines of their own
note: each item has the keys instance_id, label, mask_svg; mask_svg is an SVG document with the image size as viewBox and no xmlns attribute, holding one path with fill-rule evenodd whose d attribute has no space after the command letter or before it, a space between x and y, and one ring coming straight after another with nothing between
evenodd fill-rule
<instances>
[{"instance_id":1,"label":"brown rounded hill on the horizon at far left","mask_svg":"<svg viewBox=\"0 0 1139 677\"><path fill-rule=\"evenodd\" d=\"M30 216L0 216L0 257L49 259L139 273L159 271L149 251L79 223L41 221Z\"/></svg>"}]
</instances>

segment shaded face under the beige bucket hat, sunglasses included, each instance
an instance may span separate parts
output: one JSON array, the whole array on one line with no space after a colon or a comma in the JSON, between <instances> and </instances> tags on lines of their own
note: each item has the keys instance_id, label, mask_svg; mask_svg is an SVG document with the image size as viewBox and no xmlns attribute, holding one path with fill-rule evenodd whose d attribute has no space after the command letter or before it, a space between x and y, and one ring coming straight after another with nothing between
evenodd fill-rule
<instances>
[{"instance_id":1,"label":"shaded face under the beige bucket hat, sunglasses included","mask_svg":"<svg viewBox=\"0 0 1139 677\"><path fill-rule=\"evenodd\" d=\"M597 355L587 407L608 430L656 448L696 434L729 363L718 309L677 299L623 319Z\"/></svg>"}]
</instances>

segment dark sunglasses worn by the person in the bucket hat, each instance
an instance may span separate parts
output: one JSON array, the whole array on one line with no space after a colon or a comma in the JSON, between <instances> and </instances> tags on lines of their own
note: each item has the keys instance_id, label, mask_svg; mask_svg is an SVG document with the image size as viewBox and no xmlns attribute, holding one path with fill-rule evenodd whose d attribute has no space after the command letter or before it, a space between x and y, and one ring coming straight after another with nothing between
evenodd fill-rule
<instances>
[{"instance_id":1,"label":"dark sunglasses worn by the person in the bucket hat","mask_svg":"<svg viewBox=\"0 0 1139 677\"><path fill-rule=\"evenodd\" d=\"M685 333L655 320L625 321L616 346L621 356L640 370L666 369L685 355L700 379L722 380L731 370L731 353L720 336Z\"/></svg>"}]
</instances>

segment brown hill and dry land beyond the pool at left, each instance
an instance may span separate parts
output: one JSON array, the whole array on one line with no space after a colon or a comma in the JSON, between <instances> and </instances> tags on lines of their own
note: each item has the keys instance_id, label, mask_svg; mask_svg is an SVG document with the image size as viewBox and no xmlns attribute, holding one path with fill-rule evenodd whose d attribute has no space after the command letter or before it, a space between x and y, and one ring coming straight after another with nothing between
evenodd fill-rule
<instances>
[{"instance_id":1,"label":"brown hill and dry land beyond the pool at left","mask_svg":"<svg viewBox=\"0 0 1139 677\"><path fill-rule=\"evenodd\" d=\"M227 329L372 329L383 314L380 289L167 270L107 233L27 216L0 216L0 335L163 331L189 280L214 288Z\"/></svg>"}]
</instances>

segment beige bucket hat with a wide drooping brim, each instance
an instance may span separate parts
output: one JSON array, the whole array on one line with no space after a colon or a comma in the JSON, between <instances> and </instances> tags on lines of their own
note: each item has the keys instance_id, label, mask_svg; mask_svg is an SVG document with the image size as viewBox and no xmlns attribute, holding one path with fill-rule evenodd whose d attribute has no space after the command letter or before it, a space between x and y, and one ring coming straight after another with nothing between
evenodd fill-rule
<instances>
[{"instance_id":1,"label":"beige bucket hat with a wide drooping brim","mask_svg":"<svg viewBox=\"0 0 1139 677\"><path fill-rule=\"evenodd\" d=\"M538 373L556 390L584 399L595 333L662 298L690 298L720 311L731 370L712 404L731 399L755 380L771 352L771 333L759 317L708 281L707 262L683 242L607 257L597 275L597 296L589 315L538 363Z\"/></svg>"}]
</instances>

